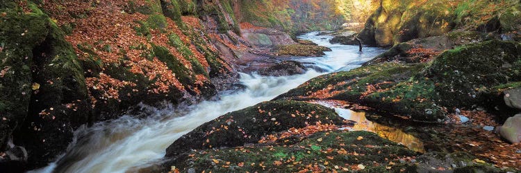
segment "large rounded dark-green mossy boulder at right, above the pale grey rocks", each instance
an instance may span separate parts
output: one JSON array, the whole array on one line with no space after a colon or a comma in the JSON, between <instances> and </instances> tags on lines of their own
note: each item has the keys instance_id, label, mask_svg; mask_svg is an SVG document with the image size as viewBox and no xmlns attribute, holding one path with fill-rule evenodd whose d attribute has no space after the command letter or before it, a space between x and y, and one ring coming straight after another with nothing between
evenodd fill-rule
<instances>
[{"instance_id":1,"label":"large rounded dark-green mossy boulder at right, above the pale grey rocks","mask_svg":"<svg viewBox=\"0 0 521 173\"><path fill-rule=\"evenodd\" d=\"M438 102L446 107L483 105L493 87L521 81L521 44L492 40L455 48L438 56L421 76L436 84Z\"/></svg>"}]
</instances>

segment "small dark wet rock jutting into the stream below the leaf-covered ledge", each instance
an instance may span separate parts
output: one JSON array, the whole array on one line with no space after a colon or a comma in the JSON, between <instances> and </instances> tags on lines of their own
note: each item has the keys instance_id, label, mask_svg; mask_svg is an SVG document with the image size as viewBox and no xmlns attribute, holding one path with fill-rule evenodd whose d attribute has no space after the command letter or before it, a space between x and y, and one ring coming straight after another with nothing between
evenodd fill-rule
<instances>
[{"instance_id":1,"label":"small dark wet rock jutting into the stream below the leaf-covered ledge","mask_svg":"<svg viewBox=\"0 0 521 173\"><path fill-rule=\"evenodd\" d=\"M306 73L306 67L300 62L283 61L267 69L261 69L258 73L265 76L297 75Z\"/></svg>"}]
</instances>

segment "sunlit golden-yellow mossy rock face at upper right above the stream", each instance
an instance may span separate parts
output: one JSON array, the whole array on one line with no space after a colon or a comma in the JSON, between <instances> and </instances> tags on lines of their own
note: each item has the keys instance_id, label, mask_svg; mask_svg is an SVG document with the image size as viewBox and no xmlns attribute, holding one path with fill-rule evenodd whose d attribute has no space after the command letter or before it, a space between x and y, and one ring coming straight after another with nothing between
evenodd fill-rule
<instances>
[{"instance_id":1,"label":"sunlit golden-yellow mossy rock face at upper right above the stream","mask_svg":"<svg viewBox=\"0 0 521 173\"><path fill-rule=\"evenodd\" d=\"M494 31L508 33L520 30L520 26L514 24L520 21L514 18L521 9L518 1L511 1L508 4L497 3L494 8L488 5L489 3L454 5L445 0L427 3L384 0L367 19L365 28L358 37L364 44L388 47L411 39L444 35L462 26L486 33ZM504 15L500 17L481 14L482 10L499 9L505 9Z\"/></svg>"}]
</instances>

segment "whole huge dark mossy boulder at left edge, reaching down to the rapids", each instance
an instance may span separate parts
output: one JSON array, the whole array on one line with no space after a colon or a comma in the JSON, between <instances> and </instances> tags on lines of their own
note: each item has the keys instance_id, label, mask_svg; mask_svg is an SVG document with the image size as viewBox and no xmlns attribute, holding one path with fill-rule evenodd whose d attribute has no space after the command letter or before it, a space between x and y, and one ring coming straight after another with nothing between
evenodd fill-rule
<instances>
[{"instance_id":1,"label":"whole huge dark mossy boulder at left edge, reaching down to the rapids","mask_svg":"<svg viewBox=\"0 0 521 173\"><path fill-rule=\"evenodd\" d=\"M63 152L73 129L89 120L83 69L62 30L34 4L0 12L1 149L6 139L26 148L28 167ZM15 130L15 131L13 131Z\"/></svg>"}]
</instances>

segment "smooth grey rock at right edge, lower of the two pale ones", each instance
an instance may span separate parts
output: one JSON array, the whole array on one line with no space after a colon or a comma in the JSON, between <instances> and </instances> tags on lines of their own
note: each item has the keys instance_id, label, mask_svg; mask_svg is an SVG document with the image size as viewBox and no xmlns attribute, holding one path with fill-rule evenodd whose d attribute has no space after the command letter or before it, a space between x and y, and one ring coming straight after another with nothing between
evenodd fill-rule
<instances>
[{"instance_id":1,"label":"smooth grey rock at right edge, lower of the two pale ones","mask_svg":"<svg viewBox=\"0 0 521 173\"><path fill-rule=\"evenodd\" d=\"M499 134L511 143L521 143L521 114L506 119Z\"/></svg>"}]
</instances>

